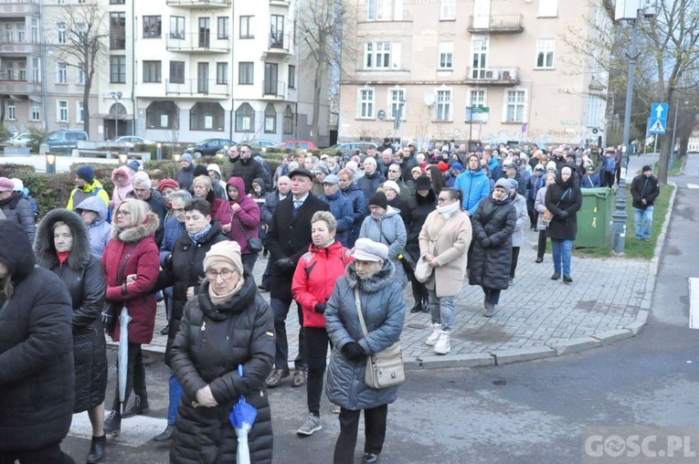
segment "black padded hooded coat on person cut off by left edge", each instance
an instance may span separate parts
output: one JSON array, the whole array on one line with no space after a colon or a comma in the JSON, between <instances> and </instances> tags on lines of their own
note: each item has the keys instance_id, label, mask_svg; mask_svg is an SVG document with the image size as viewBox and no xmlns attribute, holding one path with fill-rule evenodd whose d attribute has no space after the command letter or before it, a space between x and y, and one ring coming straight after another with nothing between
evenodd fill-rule
<instances>
[{"instance_id":1,"label":"black padded hooded coat on person cut off by left edge","mask_svg":"<svg viewBox=\"0 0 699 464\"><path fill-rule=\"evenodd\" d=\"M14 285L9 300L0 296L0 450L43 448L65 438L72 419L70 295L35 267L23 227L0 221L0 243Z\"/></svg>"}]
</instances>

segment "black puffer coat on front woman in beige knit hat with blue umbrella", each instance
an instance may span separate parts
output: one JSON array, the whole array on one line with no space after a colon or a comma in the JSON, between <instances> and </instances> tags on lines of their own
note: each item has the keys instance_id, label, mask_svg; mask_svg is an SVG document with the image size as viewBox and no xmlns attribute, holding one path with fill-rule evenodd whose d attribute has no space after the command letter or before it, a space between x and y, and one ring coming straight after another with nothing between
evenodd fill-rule
<instances>
[{"instance_id":1,"label":"black puffer coat on front woman in beige knit hat with blue umbrella","mask_svg":"<svg viewBox=\"0 0 699 464\"><path fill-rule=\"evenodd\" d=\"M250 462L272 460L270 401L265 379L274 360L274 318L259 295L255 280L245 282L229 301L214 306L208 282L187 301L172 346L172 367L182 385L170 462L227 464L236 462L238 438L228 421L240 395L258 410L249 432ZM243 364L243 376L238 376ZM209 385L218 405L193 407L196 392Z\"/></svg>"}]
</instances>

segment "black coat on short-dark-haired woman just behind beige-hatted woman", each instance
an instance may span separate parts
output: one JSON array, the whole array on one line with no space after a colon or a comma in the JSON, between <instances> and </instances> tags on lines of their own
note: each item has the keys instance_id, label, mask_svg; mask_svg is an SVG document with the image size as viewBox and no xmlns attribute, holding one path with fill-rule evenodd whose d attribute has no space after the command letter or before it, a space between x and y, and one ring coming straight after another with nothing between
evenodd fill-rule
<instances>
[{"instance_id":1,"label":"black coat on short-dark-haired woman just behind beige-hatted woman","mask_svg":"<svg viewBox=\"0 0 699 464\"><path fill-rule=\"evenodd\" d=\"M186 230L175 242L171 258L166 258L163 269L160 270L155 290L166 287L173 288L173 311L167 331L167 346L165 348L165 364L170 365L170 348L175 341L175 335L180 328L182 313L187 302L187 289L195 288L198 292L200 279L204 278L204 258L208 250L218 242L228 238L221 235L221 227L214 224L207 235L201 237L196 244Z\"/></svg>"}]
</instances>

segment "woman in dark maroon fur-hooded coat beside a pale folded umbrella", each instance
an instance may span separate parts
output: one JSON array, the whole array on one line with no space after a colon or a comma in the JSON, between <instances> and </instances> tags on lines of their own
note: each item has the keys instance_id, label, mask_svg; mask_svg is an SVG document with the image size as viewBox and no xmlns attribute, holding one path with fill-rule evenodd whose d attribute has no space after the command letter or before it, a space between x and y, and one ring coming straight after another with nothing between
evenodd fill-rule
<instances>
[{"instance_id":1,"label":"woman in dark maroon fur-hooded coat beside a pale folded umbrella","mask_svg":"<svg viewBox=\"0 0 699 464\"><path fill-rule=\"evenodd\" d=\"M132 317L124 402L128 400L132 388L134 395L131 404L121 413L117 384L112 410L104 420L104 431L109 434L120 432L122 417L132 417L148 409L141 344L151 343L155 326L157 302L152 290L160 268L158 247L154 241L158 223L158 216L151 212L147 203L135 198L123 200L114 210L111 240L102 256L111 314L114 318L118 317L125 306ZM119 341L121 331L118 323L113 323L108 332L114 342Z\"/></svg>"}]
</instances>

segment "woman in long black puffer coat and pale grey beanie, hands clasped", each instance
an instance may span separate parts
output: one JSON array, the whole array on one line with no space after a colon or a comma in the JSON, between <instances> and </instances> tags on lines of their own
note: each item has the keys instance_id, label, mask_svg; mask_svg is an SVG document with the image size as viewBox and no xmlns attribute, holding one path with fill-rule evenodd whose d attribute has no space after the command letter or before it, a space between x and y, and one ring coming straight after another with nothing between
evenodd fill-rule
<instances>
[{"instance_id":1,"label":"woman in long black puffer coat and pale grey beanie, hands clasped","mask_svg":"<svg viewBox=\"0 0 699 464\"><path fill-rule=\"evenodd\" d=\"M500 290L507 290L510 281L517 211L509 191L509 180L497 181L492 195L481 200L471 218L473 252L469 260L469 284L480 285L485 293L485 317L495 314Z\"/></svg>"}]
</instances>

